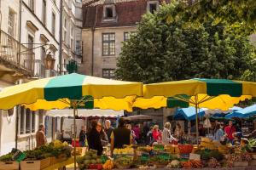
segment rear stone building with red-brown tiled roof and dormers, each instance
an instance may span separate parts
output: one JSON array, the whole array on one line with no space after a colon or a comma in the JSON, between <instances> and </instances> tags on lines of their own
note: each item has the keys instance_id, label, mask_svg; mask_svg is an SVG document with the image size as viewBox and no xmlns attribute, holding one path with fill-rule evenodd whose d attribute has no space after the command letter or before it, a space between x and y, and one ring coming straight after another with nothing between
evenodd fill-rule
<instances>
[{"instance_id":1,"label":"rear stone building with red-brown tiled roof and dormers","mask_svg":"<svg viewBox=\"0 0 256 170\"><path fill-rule=\"evenodd\" d=\"M137 30L142 15L159 8L159 0L84 0L83 62L79 71L114 78L122 42Z\"/></svg>"}]
</instances>

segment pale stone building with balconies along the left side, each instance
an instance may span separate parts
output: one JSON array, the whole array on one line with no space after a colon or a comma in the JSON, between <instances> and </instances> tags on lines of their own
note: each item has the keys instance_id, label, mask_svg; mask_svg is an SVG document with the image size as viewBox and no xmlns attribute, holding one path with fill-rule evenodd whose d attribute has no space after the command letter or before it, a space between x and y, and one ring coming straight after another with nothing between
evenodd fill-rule
<instances>
[{"instance_id":1,"label":"pale stone building with balconies along the left side","mask_svg":"<svg viewBox=\"0 0 256 170\"><path fill-rule=\"evenodd\" d=\"M62 4L61 0L0 1L0 91L15 84L66 74L68 60L81 60L81 28L81 0L63 0ZM50 69L44 63L47 54L55 59ZM61 126L60 119L24 107L0 110L0 156L15 147L15 140L18 149L33 149L40 123L47 127L48 141L55 139L55 132Z\"/></svg>"}]
</instances>

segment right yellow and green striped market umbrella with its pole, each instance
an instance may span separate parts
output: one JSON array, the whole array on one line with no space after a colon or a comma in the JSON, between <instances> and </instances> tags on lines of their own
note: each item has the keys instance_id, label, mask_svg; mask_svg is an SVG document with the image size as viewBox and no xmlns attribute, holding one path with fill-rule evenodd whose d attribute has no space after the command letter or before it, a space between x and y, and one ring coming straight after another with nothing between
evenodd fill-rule
<instances>
[{"instance_id":1,"label":"right yellow and green striped market umbrella with its pole","mask_svg":"<svg viewBox=\"0 0 256 170\"><path fill-rule=\"evenodd\" d=\"M255 96L255 82L224 79L191 79L177 82L160 82L147 84L143 87L143 97L148 98L152 102L150 107L155 106L159 108L160 105L164 104L167 106L168 103L173 107L186 104L195 105L196 122L198 121L198 108L218 108L225 111L230 106L239 103L239 101L251 99ZM196 132L197 144L199 144L198 123L196 123Z\"/></svg>"}]
</instances>

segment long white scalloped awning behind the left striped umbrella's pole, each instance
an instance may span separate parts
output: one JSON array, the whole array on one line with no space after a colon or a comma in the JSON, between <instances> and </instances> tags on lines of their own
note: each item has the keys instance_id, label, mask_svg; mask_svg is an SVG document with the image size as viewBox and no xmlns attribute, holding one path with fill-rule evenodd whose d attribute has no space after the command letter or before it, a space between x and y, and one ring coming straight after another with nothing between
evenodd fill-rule
<instances>
[{"instance_id":1,"label":"long white scalloped awning behind the left striped umbrella's pole","mask_svg":"<svg viewBox=\"0 0 256 170\"><path fill-rule=\"evenodd\" d=\"M89 116L105 116L105 117L117 117L117 116L124 116L124 111L113 111L113 110L86 110L86 109L79 109L78 116L89 117ZM46 111L46 116L52 117L68 117L73 116L72 109L66 110L50 110Z\"/></svg>"}]
</instances>

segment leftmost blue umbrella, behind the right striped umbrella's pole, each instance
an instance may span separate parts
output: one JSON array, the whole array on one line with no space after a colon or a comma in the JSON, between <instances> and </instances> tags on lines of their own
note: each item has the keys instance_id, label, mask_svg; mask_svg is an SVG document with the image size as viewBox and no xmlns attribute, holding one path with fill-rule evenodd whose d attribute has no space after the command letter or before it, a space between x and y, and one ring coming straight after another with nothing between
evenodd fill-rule
<instances>
[{"instance_id":1,"label":"leftmost blue umbrella, behind the right striped umbrella's pole","mask_svg":"<svg viewBox=\"0 0 256 170\"><path fill-rule=\"evenodd\" d=\"M198 115L199 116L204 116L205 115L205 111L207 111L207 109L200 109L198 111ZM177 111L175 111L173 118L175 120L187 120L187 121L192 121L195 120L195 107L193 106L189 106L188 108L183 108L183 109L177 109Z\"/></svg>"}]
</instances>

